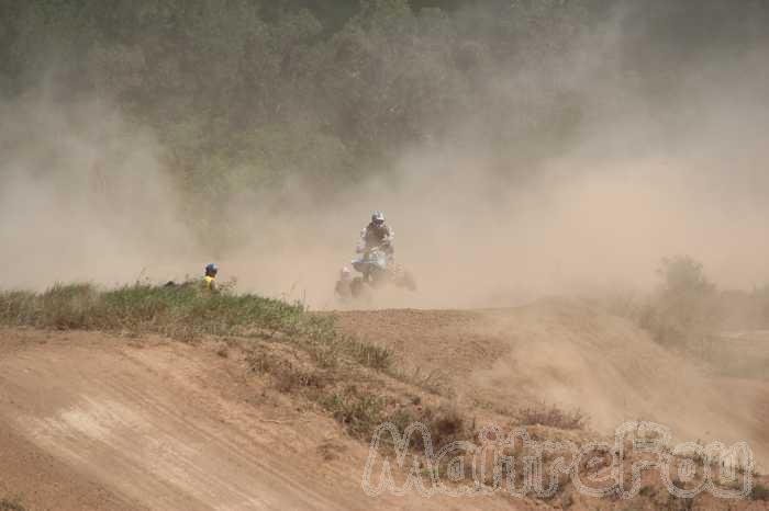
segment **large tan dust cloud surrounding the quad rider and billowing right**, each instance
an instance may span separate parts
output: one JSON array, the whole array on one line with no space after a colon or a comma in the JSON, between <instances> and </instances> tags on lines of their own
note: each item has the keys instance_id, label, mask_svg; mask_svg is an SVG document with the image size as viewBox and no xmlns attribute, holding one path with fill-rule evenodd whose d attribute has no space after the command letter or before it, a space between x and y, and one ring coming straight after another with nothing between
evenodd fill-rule
<instances>
[{"instance_id":1,"label":"large tan dust cloud surrounding the quad rider and billowing right","mask_svg":"<svg viewBox=\"0 0 769 511\"><path fill-rule=\"evenodd\" d=\"M383 209L397 257L420 289L379 296L374 306L490 307L543 295L646 291L660 259L684 253L701 260L720 286L762 285L769 180L761 163L767 149L755 134L765 132L769 115L759 122L757 109L767 113L765 106L718 99L723 114L707 107L715 95L702 100L703 115L713 117L693 118L673 149L653 145L666 126L650 123L639 133L638 123L614 120L512 182L490 170L482 151L417 148L390 181L342 194L328 211L294 212L291 224L279 212L263 219L266 232L280 232L277 253L246 250L233 262L249 286L335 307L328 289L336 270L354 256L370 211ZM617 141L625 121L634 129ZM610 138L618 147L608 149ZM510 162L512 174L526 170ZM254 229L255 237L261 232Z\"/></svg>"}]
</instances>

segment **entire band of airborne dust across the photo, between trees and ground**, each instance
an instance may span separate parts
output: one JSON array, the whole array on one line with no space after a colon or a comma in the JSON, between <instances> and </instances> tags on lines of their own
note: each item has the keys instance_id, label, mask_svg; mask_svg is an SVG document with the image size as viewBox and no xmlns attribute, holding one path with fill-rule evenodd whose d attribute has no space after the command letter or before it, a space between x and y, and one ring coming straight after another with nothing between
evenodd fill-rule
<instances>
[{"instance_id":1,"label":"entire band of airborne dust across the photo, between trees and ground","mask_svg":"<svg viewBox=\"0 0 769 511\"><path fill-rule=\"evenodd\" d=\"M420 288L366 307L643 289L660 258L679 253L722 286L769 282L767 46L713 54L706 66L661 61L656 72L672 79L660 98L622 69L621 18L562 61L484 77L480 111L508 96L523 110L493 121L447 112L448 135L415 143L387 174L320 198L301 178L286 185L286 202L232 196L214 228L235 232L236 246L212 247L190 229L196 207L182 204L156 134L108 103L62 104L38 91L1 104L3 287L164 282L216 261L242 291L336 308L334 281L372 209L388 215L397 257ZM573 135L526 135L532 150L494 143L503 129L558 128L564 118L540 118L537 105L559 93L580 112Z\"/></svg>"}]
</instances>

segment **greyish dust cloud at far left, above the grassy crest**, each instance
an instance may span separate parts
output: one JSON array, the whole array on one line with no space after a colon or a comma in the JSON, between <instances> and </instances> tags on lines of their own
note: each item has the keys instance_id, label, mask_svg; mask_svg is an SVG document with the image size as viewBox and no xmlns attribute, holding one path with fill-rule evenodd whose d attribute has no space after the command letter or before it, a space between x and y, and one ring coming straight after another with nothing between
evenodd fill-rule
<instances>
[{"instance_id":1,"label":"greyish dust cloud at far left, above the grassy crest","mask_svg":"<svg viewBox=\"0 0 769 511\"><path fill-rule=\"evenodd\" d=\"M134 282L191 249L153 137L116 111L38 91L0 117L3 288Z\"/></svg>"}]
</instances>

